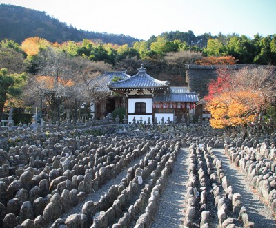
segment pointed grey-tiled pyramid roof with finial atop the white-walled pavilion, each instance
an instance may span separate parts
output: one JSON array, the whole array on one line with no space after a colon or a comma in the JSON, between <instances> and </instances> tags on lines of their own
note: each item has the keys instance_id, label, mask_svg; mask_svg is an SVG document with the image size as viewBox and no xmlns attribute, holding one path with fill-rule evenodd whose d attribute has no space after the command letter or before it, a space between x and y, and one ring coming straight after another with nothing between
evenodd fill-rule
<instances>
[{"instance_id":1,"label":"pointed grey-tiled pyramid roof with finial atop the white-walled pavilion","mask_svg":"<svg viewBox=\"0 0 276 228\"><path fill-rule=\"evenodd\" d=\"M168 81L159 81L154 79L146 73L143 64L138 69L138 73L130 78L124 79L119 82L110 82L108 87L112 90L125 90L125 89L164 89L169 85Z\"/></svg>"}]
</instances>

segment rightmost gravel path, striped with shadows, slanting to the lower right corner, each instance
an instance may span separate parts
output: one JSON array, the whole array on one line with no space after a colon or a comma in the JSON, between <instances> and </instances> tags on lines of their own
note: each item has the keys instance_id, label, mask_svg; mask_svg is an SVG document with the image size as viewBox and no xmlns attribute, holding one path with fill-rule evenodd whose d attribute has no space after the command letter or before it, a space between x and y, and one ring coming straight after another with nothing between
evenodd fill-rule
<instances>
[{"instance_id":1,"label":"rightmost gravel path, striped with shadows, slanting to the lower right corner","mask_svg":"<svg viewBox=\"0 0 276 228\"><path fill-rule=\"evenodd\" d=\"M248 179L242 174L242 171L235 168L230 163L223 149L213 149L215 155L222 160L222 169L227 179L232 184L233 192L240 193L242 205L247 209L249 220L255 223L257 228L276 227L276 220L273 218L271 209L266 206L249 185Z\"/></svg>"}]
</instances>

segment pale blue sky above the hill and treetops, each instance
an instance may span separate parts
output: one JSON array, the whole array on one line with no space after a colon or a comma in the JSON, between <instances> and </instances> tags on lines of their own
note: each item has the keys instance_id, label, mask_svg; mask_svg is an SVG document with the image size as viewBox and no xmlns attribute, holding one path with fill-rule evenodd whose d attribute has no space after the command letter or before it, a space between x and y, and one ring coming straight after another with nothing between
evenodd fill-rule
<instances>
[{"instance_id":1,"label":"pale blue sky above the hill and treetops","mask_svg":"<svg viewBox=\"0 0 276 228\"><path fill-rule=\"evenodd\" d=\"M45 11L68 25L149 39L162 32L195 35L276 34L276 0L0 0Z\"/></svg>"}]
</instances>

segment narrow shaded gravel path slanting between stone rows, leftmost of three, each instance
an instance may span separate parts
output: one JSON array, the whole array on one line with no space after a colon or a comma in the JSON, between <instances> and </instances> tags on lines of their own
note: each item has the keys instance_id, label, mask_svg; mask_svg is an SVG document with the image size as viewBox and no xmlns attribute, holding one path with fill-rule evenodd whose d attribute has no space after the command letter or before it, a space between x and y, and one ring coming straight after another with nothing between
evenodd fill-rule
<instances>
[{"instance_id":1,"label":"narrow shaded gravel path slanting between stone rows, leftmost of three","mask_svg":"<svg viewBox=\"0 0 276 228\"><path fill-rule=\"evenodd\" d=\"M116 178L114 179L111 179L111 180L108 180L108 182L106 182L106 184L103 185L103 187L101 187L101 189L95 191L95 192L92 192L90 193L84 200L83 202L80 202L76 207L73 207L70 211L67 211L66 213L63 214L63 216L61 217L63 220L66 220L66 218L68 216L70 216L71 214L74 214L74 213L81 213L81 209L84 205L84 203L86 201L94 201L94 202L97 202L101 199L101 196L103 196L105 193L108 193L108 189L110 189L110 187L113 185L113 184L120 184L121 182L121 179L123 178L126 178L126 174L127 174L127 171L128 171L128 168L130 167L134 167L134 165L136 163L139 163L139 161L141 159L144 159L144 156L146 155L146 153L144 155L142 155L141 157L133 160L132 162L130 162L130 164L128 164L128 167L126 167L125 169L123 169L121 171L121 173L119 173L119 175L117 175Z\"/></svg>"}]
</instances>

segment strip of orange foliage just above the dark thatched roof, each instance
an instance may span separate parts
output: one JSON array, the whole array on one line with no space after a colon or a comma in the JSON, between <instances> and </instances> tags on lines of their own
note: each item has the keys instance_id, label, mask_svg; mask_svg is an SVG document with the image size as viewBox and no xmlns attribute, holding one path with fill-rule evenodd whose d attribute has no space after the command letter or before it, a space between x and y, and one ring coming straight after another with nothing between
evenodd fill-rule
<instances>
[{"instance_id":1,"label":"strip of orange foliage just above the dark thatched roof","mask_svg":"<svg viewBox=\"0 0 276 228\"><path fill-rule=\"evenodd\" d=\"M197 65L234 65L237 64L235 57L227 55L227 56L210 56L210 57L202 57L201 59L195 61Z\"/></svg>"}]
</instances>

